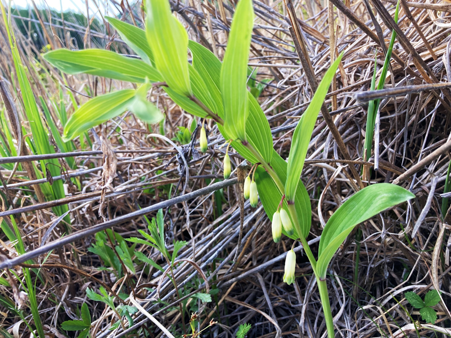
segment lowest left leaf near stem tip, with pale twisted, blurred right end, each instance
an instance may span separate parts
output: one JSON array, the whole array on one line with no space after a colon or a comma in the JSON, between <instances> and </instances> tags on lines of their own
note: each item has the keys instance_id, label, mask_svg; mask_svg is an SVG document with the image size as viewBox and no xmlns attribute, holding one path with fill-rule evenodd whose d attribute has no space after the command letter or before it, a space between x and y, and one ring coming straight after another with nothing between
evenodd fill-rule
<instances>
[{"instance_id":1,"label":"lowest left leaf near stem tip, with pale twisted, blurred right end","mask_svg":"<svg viewBox=\"0 0 451 338\"><path fill-rule=\"evenodd\" d=\"M68 141L89 128L121 115L126 110L133 111L137 117L148 123L162 119L158 108L147 101L148 84L137 90L125 89L97 96L79 107L64 127L63 139Z\"/></svg>"}]
</instances>

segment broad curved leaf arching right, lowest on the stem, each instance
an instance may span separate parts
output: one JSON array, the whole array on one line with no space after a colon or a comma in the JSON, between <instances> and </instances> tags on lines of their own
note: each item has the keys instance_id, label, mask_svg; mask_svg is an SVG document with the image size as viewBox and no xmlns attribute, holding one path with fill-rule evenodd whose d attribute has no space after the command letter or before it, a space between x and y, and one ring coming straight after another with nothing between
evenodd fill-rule
<instances>
[{"instance_id":1,"label":"broad curved leaf arching right, lowest on the stem","mask_svg":"<svg viewBox=\"0 0 451 338\"><path fill-rule=\"evenodd\" d=\"M317 264L319 277L326 277L330 260L357 224L414 197L403 187L389 183L373 184L352 195L329 218L321 234Z\"/></svg>"}]
</instances>

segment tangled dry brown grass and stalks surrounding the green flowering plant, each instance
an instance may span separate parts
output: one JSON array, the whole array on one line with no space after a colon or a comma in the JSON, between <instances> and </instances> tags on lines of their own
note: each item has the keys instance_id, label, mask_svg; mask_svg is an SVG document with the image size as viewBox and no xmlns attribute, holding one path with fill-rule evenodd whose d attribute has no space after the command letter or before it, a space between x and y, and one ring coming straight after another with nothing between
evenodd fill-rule
<instances>
[{"instance_id":1,"label":"tangled dry brown grass and stalks surrounding the green flowering plant","mask_svg":"<svg viewBox=\"0 0 451 338\"><path fill-rule=\"evenodd\" d=\"M214 5L198 0L170 2L175 15L187 27L190 39L202 43L221 59L235 2L219 1ZM111 1L110 5L115 4ZM359 189L355 173L362 173L363 184L368 180L388 183L396 180L416 195L407 208L404 205L391 209L360 224L334 258L329 270L332 276L329 289L337 336L451 335L447 309L451 308L450 218L449 203L442 198L449 191L445 180L451 149L451 92L449 88L408 91L382 100L372 152L376 155L366 161L362 158L362 147L368 104L354 97L370 89L375 56L376 76L380 76L393 29L398 36L385 88L448 82L451 5L402 0L398 25L393 27L391 18L396 2L392 0L345 3L329 0L329 4L255 0L253 4L256 20L249 66L257 71L250 77L256 91L261 90L259 102L272 128L274 148L284 158L288 156L294 127L313 96L299 62L299 49L305 46L317 78L330 66L331 54L344 52L340 71L325 102L340 135L332 134L320 115L302 174L312 199L313 221L308 240L314 253L324 221ZM116 7L124 20L142 26L140 5L141 2L134 5L122 2ZM299 35L291 28L293 12L305 45L296 45ZM103 39L98 40L103 44L97 47L132 54L106 22L104 32L96 32L67 24L61 18L54 18L52 25L48 25L39 12L33 13L35 19L19 20L24 20L32 31L40 30L43 45L52 49L76 47L66 34L75 31L83 35L87 48L94 47L91 39L96 37ZM20 250L8 236L8 228L13 229L15 224L25 251L40 255L32 254L33 260L11 264L10 270L0 274L3 315L0 335L24 337L37 329L30 292L23 293L24 271L30 269L26 271L35 285L36 305L48 337L75 336L76 331L64 330L62 323L80 319L84 303L92 318L90 334L98 338L164 336L155 322L175 336L191 337L194 335L190 318L194 312L197 319L192 323L198 331L206 328L200 335L205 337L234 337L244 323L251 324L248 337L322 336L325 323L311 266L298 255L296 282L292 286L283 283L283 262L292 242L272 241L270 221L261 204L256 209L250 208L248 201L244 204L242 241L238 246L240 189L236 174L222 180L224 148L220 146L224 139L217 128L213 124L207 126L209 151L200 153L196 137L199 122L163 91L154 89L150 99L164 112L164 123L149 126L125 114L70 142L65 149L72 154L60 155L65 151L59 146L55 132L62 132L62 110L70 115L74 104L86 102L87 97L131 85L93 76L61 74L41 59L39 48L18 31L16 24L13 21L12 29L21 60L48 126L50 136L46 141L56 153L51 157L57 160L45 167L44 162L38 161L43 157L35 143L42 140L31 139L30 125L34 121L22 108L22 93L18 92L2 21L2 155L14 156L17 147L22 148L21 156L0 159L2 261L18 257ZM6 97L10 99L5 100ZM48 114L44 114L45 109ZM11 111L16 114L11 115ZM49 120L53 121L54 129ZM22 128L17 127L20 124ZM166 139L149 137L151 133L162 134ZM337 146L340 138L346 152ZM173 139L177 147L167 139ZM231 155L232 167L237 167L243 159L233 151ZM19 167L14 165L18 161ZM35 175L33 166L41 171L42 177ZM355 168L354 173L351 168ZM50 181L63 182L65 196L51 201L43 195L41 187L44 189L44 182ZM68 207L68 213L58 217L55 208L62 206ZM140 211L146 207L149 219L162 209L170 252L174 239L187 242L171 275L174 284L149 261L137 259L151 258L165 269L167 265L159 251L123 241L143 238L138 230L147 231L147 220ZM106 232L106 228L114 231L116 237ZM68 233L75 237L63 242ZM50 253L34 251L48 243L56 244ZM107 252L105 247L112 252L109 258L101 255L101 250ZM126 255L124 250L131 254ZM301 247L296 250L300 252ZM141 255L136 256L134 251ZM120 264L111 263L118 257ZM112 261L108 263L107 259ZM134 295L142 308L137 307L138 311L131 314L132 325L120 314L125 316L123 324L109 330L118 320L115 312L105 303L87 297L88 289L98 292L100 287L110 294L119 294L118 297ZM434 307L438 314L435 324L422 321L404 297L407 291L422 297L431 288L440 289L444 301ZM211 301L206 293L211 294ZM121 300L116 299L115 304L122 305ZM146 311L155 321L146 316ZM211 320L217 323L208 327Z\"/></svg>"}]
</instances>

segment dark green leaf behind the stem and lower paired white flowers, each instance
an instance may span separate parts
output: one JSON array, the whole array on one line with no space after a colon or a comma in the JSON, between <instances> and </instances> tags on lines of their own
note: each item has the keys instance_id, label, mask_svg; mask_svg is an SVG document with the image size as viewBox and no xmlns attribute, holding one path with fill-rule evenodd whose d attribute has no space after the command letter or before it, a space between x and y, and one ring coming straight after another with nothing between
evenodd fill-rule
<instances>
[{"instance_id":1,"label":"dark green leaf behind the stem and lower paired white flowers","mask_svg":"<svg viewBox=\"0 0 451 338\"><path fill-rule=\"evenodd\" d=\"M271 166L282 182L287 177L287 165L287 162L285 162L284 159L281 158L275 150L273 150ZM269 174L261 166L257 168L255 179L263 208L265 209L266 215L272 221L272 216L277 210L277 206L282 199L282 194L278 190L271 176L269 176ZM304 237L307 237L312 223L312 205L310 203L308 192L301 180L299 180L298 188L296 189L294 205L299 218L302 234ZM287 203L285 200L284 207L287 208ZM282 232L285 236L288 236L291 239L299 238L299 234L297 234L296 229L294 234L291 236L289 236L284 229Z\"/></svg>"}]
</instances>

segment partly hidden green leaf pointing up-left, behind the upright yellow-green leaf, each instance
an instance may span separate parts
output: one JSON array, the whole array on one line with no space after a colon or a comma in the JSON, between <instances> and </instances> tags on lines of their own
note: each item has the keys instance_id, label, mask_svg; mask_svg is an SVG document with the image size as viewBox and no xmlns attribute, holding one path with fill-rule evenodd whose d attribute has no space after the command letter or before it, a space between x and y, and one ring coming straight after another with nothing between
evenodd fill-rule
<instances>
[{"instance_id":1,"label":"partly hidden green leaf pointing up-left, behind the upright yellow-green leaf","mask_svg":"<svg viewBox=\"0 0 451 338\"><path fill-rule=\"evenodd\" d=\"M125 43L139 55L144 62L153 65L154 58L149 43L147 42L146 32L130 23L105 16L105 19L115 27L119 36Z\"/></svg>"}]
</instances>

